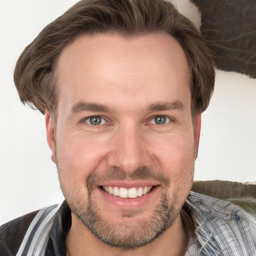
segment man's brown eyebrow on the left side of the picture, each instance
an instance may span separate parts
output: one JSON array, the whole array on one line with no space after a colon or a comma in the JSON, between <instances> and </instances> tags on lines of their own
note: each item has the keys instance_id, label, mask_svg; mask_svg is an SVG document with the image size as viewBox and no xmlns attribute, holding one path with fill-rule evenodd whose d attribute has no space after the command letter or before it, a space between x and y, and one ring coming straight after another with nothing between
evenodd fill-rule
<instances>
[{"instance_id":1,"label":"man's brown eyebrow on the left side of the picture","mask_svg":"<svg viewBox=\"0 0 256 256\"><path fill-rule=\"evenodd\" d=\"M83 111L108 112L109 108L102 104L86 102L86 101L78 101L72 106L70 114L79 113Z\"/></svg>"}]
</instances>

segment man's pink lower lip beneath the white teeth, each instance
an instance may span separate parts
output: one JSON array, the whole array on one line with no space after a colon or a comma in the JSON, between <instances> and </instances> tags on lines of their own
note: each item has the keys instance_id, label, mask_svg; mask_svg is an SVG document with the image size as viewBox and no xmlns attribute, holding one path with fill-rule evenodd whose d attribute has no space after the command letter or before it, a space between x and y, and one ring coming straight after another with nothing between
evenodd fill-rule
<instances>
[{"instance_id":1,"label":"man's pink lower lip beneath the white teeth","mask_svg":"<svg viewBox=\"0 0 256 256\"><path fill-rule=\"evenodd\" d=\"M135 198L121 198L105 192L101 188L97 187L100 195L103 197L104 201L122 209L138 208L142 207L153 200L153 197L159 192L159 186L154 186L153 189L144 195L137 196Z\"/></svg>"}]
</instances>

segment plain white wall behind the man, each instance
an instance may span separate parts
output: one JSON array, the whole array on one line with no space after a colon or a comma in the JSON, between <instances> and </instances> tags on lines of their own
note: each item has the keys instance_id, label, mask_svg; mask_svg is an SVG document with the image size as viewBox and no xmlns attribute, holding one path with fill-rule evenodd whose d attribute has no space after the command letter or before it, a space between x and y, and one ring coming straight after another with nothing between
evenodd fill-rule
<instances>
[{"instance_id":1,"label":"plain white wall behind the man","mask_svg":"<svg viewBox=\"0 0 256 256\"><path fill-rule=\"evenodd\" d=\"M63 200L44 118L24 107L12 81L23 48L76 0L0 0L0 224ZM179 8L197 20L187 0ZM196 22L196 21L195 21ZM202 115L195 180L256 180L256 79L217 71Z\"/></svg>"}]
</instances>

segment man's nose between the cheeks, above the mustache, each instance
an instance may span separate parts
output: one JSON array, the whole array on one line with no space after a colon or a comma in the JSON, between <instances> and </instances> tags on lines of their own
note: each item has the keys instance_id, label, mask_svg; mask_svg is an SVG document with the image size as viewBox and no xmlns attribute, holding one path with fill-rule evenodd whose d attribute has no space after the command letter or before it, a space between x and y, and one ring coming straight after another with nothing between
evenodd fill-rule
<instances>
[{"instance_id":1,"label":"man's nose between the cheeks, above the mustache","mask_svg":"<svg viewBox=\"0 0 256 256\"><path fill-rule=\"evenodd\" d=\"M131 174L138 167L148 166L151 159L146 137L135 125L120 128L111 140L108 165Z\"/></svg>"}]
</instances>

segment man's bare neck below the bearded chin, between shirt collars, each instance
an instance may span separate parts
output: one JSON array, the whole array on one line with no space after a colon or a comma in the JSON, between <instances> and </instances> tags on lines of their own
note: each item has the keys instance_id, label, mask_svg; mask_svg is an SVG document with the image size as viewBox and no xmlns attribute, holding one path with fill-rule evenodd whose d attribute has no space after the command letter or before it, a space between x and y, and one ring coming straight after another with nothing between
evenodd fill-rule
<instances>
[{"instance_id":1,"label":"man's bare neck below the bearded chin, between shirt collars","mask_svg":"<svg viewBox=\"0 0 256 256\"><path fill-rule=\"evenodd\" d=\"M183 217L183 214L182 214ZM125 250L109 246L99 240L88 230L77 217L72 214L72 225L65 238L67 256L80 255L168 255L180 256L184 255L187 239L185 230L187 221L181 220L179 214L172 226L165 230L161 235L155 238L152 242L135 248Z\"/></svg>"}]
</instances>

